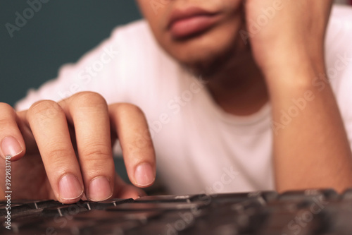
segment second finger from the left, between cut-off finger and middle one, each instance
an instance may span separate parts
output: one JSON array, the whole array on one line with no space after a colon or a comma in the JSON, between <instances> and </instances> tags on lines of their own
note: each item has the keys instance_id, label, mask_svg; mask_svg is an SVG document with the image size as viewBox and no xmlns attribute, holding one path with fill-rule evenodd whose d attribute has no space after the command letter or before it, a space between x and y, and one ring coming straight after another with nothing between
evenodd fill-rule
<instances>
[{"instance_id":1,"label":"second finger from the left, between cut-off finger and middle one","mask_svg":"<svg viewBox=\"0 0 352 235\"><path fill-rule=\"evenodd\" d=\"M63 109L53 101L36 102L27 120L56 198L62 203L76 202L84 188Z\"/></svg>"}]
</instances>

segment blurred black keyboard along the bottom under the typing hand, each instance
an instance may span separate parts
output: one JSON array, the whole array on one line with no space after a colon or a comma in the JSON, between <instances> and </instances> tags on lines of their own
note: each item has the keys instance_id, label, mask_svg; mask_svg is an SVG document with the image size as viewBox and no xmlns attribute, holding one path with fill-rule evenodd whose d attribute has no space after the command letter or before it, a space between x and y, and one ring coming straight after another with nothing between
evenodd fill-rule
<instances>
[{"instance_id":1,"label":"blurred black keyboard along the bottom under the typing hand","mask_svg":"<svg viewBox=\"0 0 352 235\"><path fill-rule=\"evenodd\" d=\"M11 210L1 201L0 222L0 234L351 235L352 189L154 195L71 205L12 200Z\"/></svg>"}]
</instances>

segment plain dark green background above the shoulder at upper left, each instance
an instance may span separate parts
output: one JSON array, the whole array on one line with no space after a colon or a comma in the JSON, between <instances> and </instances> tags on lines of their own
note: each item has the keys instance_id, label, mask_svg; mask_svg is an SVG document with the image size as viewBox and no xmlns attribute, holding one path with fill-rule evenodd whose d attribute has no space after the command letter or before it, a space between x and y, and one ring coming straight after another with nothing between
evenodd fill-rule
<instances>
[{"instance_id":1,"label":"plain dark green background above the shoulder at upper left","mask_svg":"<svg viewBox=\"0 0 352 235\"><path fill-rule=\"evenodd\" d=\"M11 38L6 23L15 25L15 13L23 16L29 5L0 3L0 102L11 105L56 78L62 64L77 61L115 26L141 18L133 0L51 0Z\"/></svg>"}]
</instances>

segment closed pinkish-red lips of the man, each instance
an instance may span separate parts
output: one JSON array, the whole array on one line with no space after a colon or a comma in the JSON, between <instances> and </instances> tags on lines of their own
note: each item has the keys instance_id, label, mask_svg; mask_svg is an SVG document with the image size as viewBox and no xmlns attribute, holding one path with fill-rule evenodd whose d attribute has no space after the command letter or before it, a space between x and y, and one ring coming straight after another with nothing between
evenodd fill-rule
<instances>
[{"instance_id":1,"label":"closed pinkish-red lips of the man","mask_svg":"<svg viewBox=\"0 0 352 235\"><path fill-rule=\"evenodd\" d=\"M202 8L187 8L172 12L168 30L173 38L182 39L199 34L211 28L218 21L218 13L211 13Z\"/></svg>"}]
</instances>

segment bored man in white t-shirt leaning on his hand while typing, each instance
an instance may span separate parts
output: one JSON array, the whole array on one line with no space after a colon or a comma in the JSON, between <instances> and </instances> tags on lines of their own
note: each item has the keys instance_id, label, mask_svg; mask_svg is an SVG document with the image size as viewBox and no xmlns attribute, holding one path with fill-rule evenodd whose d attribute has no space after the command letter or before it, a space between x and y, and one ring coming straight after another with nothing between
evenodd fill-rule
<instances>
[{"instance_id":1,"label":"bored man in white t-shirt leaning on his hand while typing","mask_svg":"<svg viewBox=\"0 0 352 235\"><path fill-rule=\"evenodd\" d=\"M352 186L350 8L332 17L329 38L344 37L328 44L329 85L332 1L138 4L149 26L118 28L18 112L1 104L13 197L136 198L134 186L155 179L155 156L171 193ZM116 138L134 186L115 176Z\"/></svg>"}]
</instances>

